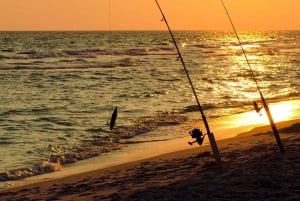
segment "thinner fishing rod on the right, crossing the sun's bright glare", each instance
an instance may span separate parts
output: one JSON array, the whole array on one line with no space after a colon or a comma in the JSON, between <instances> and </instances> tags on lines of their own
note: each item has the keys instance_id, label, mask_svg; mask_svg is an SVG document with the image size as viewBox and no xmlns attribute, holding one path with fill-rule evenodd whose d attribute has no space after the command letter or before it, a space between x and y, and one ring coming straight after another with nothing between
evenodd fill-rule
<instances>
[{"instance_id":1,"label":"thinner fishing rod on the right, crossing the sun's bright glare","mask_svg":"<svg viewBox=\"0 0 300 201\"><path fill-rule=\"evenodd\" d=\"M238 33L237 33L237 30L236 30L236 28L235 28L235 26L234 26L234 24L233 24L233 22L232 22L232 20L231 20L231 17L230 17L230 15L229 15L229 12L228 12L226 6L225 6L224 1L223 1L223 0L220 0L220 1L221 1L222 5L223 5L223 8L224 8L224 10L225 10L225 12L226 12L226 14L227 14L227 17L228 17L228 19L229 19L229 21L230 21L230 24L231 24L231 26L232 26L232 28L233 28L233 31L234 31L234 33L235 33L235 36L236 36L237 40L238 40L239 46L240 46L241 49L242 49L243 55L244 55L244 57L245 57L245 60L246 60L246 62L247 62L247 65L248 65L248 67L249 67L249 71L251 72L252 79L254 80L254 82L255 82L255 84L256 84L257 91L258 91L258 93L259 93L259 96L260 96L261 101L262 101L262 103L263 103L263 106L264 106L264 108L265 108L266 114L267 114L267 116L268 116L268 119L269 119L269 122L270 122L270 126L271 126L271 128L272 128L272 130L273 130L273 134L274 134L274 136L275 136L275 139L276 139L277 145L278 145L278 147L279 147L279 150L280 150L281 153L285 153L285 149L284 149L284 147L283 147L283 145L282 145L282 142L281 142L281 139L280 139L280 136L279 136L277 127L276 127L276 125L275 125L275 123L274 123L274 120L273 120L273 117L272 117L270 108L269 108L269 106L268 106L268 104L267 104L267 102L266 102L266 100L265 100L265 98L264 98L264 96L263 96L263 94L262 94L262 92L261 92L261 89L260 89L260 87L259 87L259 85L258 85L257 79L256 79L256 77L255 77L255 75L254 75L253 70L252 70L252 67L251 67L251 64L250 64L250 62L249 62L249 59L248 59L248 57L247 57L246 51L245 51L245 49L244 49L244 47L243 47L243 45L242 45L241 39L240 39L240 37L239 37L239 35L238 35Z\"/></svg>"}]
</instances>

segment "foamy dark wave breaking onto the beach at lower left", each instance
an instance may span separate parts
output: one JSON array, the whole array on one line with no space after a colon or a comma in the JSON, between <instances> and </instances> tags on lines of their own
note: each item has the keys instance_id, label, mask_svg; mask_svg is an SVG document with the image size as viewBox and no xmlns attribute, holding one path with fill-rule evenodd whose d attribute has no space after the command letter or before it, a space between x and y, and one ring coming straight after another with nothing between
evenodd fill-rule
<instances>
[{"instance_id":1,"label":"foamy dark wave breaking onto the beach at lower left","mask_svg":"<svg viewBox=\"0 0 300 201\"><path fill-rule=\"evenodd\" d=\"M46 119L48 120L48 119ZM0 181L18 180L44 173L59 171L64 165L79 160L99 156L103 153L120 150L132 143L127 141L137 135L145 134L158 126L172 126L187 121L187 117L179 113L161 113L157 117L143 117L136 124L127 127L118 127L115 131L106 131L102 128L91 128L91 139L82 140L79 147L65 150L59 145L49 144L48 159L33 165L31 168L19 168L0 173Z\"/></svg>"}]
</instances>

